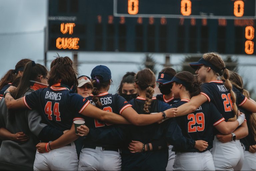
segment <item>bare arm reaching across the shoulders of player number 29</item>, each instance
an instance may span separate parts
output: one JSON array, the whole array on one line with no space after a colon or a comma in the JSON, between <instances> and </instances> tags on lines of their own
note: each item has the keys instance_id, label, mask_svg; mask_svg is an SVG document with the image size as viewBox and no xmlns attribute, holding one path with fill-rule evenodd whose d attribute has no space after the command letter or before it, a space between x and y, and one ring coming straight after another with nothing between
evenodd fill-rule
<instances>
[{"instance_id":1,"label":"bare arm reaching across the shoulders of player number 29","mask_svg":"<svg viewBox=\"0 0 256 171\"><path fill-rule=\"evenodd\" d=\"M192 97L190 99L190 102L185 103L177 108L177 117L184 116L194 112L199 106L201 106L207 100L207 97L205 97L202 94Z\"/></svg>"}]
</instances>

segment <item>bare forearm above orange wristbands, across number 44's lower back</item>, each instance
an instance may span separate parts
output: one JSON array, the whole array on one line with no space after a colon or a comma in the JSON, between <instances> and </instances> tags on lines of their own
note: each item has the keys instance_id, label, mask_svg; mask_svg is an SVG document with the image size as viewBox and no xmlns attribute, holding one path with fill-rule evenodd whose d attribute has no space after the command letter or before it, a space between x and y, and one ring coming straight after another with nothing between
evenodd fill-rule
<instances>
[{"instance_id":1,"label":"bare forearm above orange wristbands, across number 44's lower back","mask_svg":"<svg viewBox=\"0 0 256 171\"><path fill-rule=\"evenodd\" d=\"M71 129L68 132L63 134L57 140L52 141L50 143L51 149L53 150L53 149L60 148L60 147L63 147L65 145L68 145L71 142L75 141L78 137L79 137L79 135L75 134L75 128L74 128L74 124L73 124Z\"/></svg>"}]
</instances>

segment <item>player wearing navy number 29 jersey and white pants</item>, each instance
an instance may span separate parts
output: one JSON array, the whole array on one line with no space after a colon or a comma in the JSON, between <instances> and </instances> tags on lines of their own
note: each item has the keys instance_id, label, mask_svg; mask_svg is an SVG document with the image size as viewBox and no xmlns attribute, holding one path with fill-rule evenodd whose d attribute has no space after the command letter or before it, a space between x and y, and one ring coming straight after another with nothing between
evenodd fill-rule
<instances>
[{"instance_id":1,"label":"player wearing navy number 29 jersey and white pants","mask_svg":"<svg viewBox=\"0 0 256 171\"><path fill-rule=\"evenodd\" d=\"M179 107L190 101L190 98L200 94L200 85L190 72L180 72L173 79L173 96L181 101L174 104ZM213 127L222 134L230 134L244 121L244 114L237 121L225 122L213 103L203 103L193 113L177 118L177 122L186 138L193 140L204 140L208 147L204 151L197 149L176 150L173 170L215 170L210 149L213 147Z\"/></svg>"}]
</instances>

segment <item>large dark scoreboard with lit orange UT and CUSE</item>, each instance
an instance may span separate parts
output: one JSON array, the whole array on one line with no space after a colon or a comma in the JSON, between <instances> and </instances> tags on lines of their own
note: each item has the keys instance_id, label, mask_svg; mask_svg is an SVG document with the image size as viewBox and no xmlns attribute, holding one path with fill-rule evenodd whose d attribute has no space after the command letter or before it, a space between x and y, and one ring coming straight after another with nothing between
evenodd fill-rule
<instances>
[{"instance_id":1,"label":"large dark scoreboard with lit orange UT and CUSE","mask_svg":"<svg viewBox=\"0 0 256 171\"><path fill-rule=\"evenodd\" d=\"M256 0L48 0L48 51L255 55Z\"/></svg>"}]
</instances>

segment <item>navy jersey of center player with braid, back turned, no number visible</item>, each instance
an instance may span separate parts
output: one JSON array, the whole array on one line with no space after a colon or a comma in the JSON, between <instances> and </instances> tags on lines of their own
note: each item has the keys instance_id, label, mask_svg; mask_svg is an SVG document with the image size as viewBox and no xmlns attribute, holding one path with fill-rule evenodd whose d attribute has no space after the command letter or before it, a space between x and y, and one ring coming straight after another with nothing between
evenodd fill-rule
<instances>
[{"instance_id":1,"label":"navy jersey of center player with braid, back turned, no number visible","mask_svg":"<svg viewBox=\"0 0 256 171\"><path fill-rule=\"evenodd\" d=\"M152 113L172 108L172 106L157 100L155 97L152 99L153 101L149 108L149 111ZM143 111L145 100L142 97L137 97L129 102L138 113L147 114ZM164 138L171 145L180 146L179 149L193 148L195 143L193 140L182 136L181 129L175 119L168 119L161 124L154 123L146 126L130 125L127 128L126 134L128 137L125 147L122 149L122 170L165 170L168 163L168 148L131 153L127 147L128 143L132 140L146 144L153 140Z\"/></svg>"}]
</instances>

